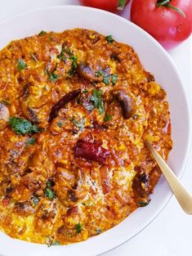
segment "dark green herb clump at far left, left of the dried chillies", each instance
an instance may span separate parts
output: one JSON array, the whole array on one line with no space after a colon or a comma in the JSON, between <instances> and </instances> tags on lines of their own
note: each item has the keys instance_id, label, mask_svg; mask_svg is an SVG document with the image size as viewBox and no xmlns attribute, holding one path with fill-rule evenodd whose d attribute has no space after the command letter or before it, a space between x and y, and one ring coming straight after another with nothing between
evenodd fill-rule
<instances>
[{"instance_id":1,"label":"dark green herb clump at far left, left of the dried chillies","mask_svg":"<svg viewBox=\"0 0 192 256\"><path fill-rule=\"evenodd\" d=\"M19 117L12 117L9 119L9 125L16 134L25 135L40 132L41 129L36 125L32 124L27 119L21 119Z\"/></svg>"}]
</instances>

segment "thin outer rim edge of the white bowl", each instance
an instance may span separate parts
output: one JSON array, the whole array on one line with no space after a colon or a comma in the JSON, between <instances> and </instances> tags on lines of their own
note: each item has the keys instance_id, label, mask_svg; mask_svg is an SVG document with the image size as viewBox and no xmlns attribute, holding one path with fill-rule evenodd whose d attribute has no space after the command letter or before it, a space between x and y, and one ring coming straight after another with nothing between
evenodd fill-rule
<instances>
[{"instance_id":1,"label":"thin outer rim edge of the white bowl","mask_svg":"<svg viewBox=\"0 0 192 256\"><path fill-rule=\"evenodd\" d=\"M36 13L36 12L39 12L39 11L50 11L50 10L53 10L53 9L87 9L87 10L90 10L90 11L96 11L98 14L100 12L103 12L105 15L108 15L108 16L111 16L111 18L113 19L113 17L115 17L116 19L118 20L121 20L122 22L124 23L129 23L129 25L131 25L132 27L135 27L138 31L140 31L140 33L142 34L145 34L145 37L149 38L150 41L153 41L154 44L156 45L156 47L159 48L160 51L163 51L163 54L167 57L168 61L171 63L173 69L176 71L176 74L177 74L177 79L179 80L179 83L181 84L181 90L183 92L183 96L185 97L185 104L186 104L186 109L187 109L187 117L188 117L188 120L189 120L189 123L188 123L188 130L189 130L189 141L187 143L187 147L186 147L186 153L185 153L185 159L183 161L183 164L182 164L182 167L180 169L180 172L179 174L177 175L177 177L179 177L181 179L183 173L185 172L185 168L186 168L186 165L188 163L188 160L190 158L190 152L192 151L192 145L191 145L191 139L192 139L192 119L191 119L191 106L190 106L190 100L189 100L189 97L187 96L186 92L185 92L185 89L184 89L184 83L181 79L181 76L178 72L178 69L174 63L174 61L172 60L171 56L169 56L168 52L158 43L158 41L156 41L150 34L148 34L144 29L141 29L141 27L139 27L138 25L132 23L130 20L126 20L125 18L123 18L122 16L118 16L117 14L114 14L114 13L111 13L109 11L104 11L104 10L100 10L100 9L96 9L96 8L92 8L92 7L83 7L83 6L77 6L77 5L65 5L65 3L63 5L55 5L55 6L51 6L51 7L40 7L40 8L34 8L33 10L30 10L30 11L22 11L14 16L11 16L5 20L2 20L0 22L0 26L1 25L4 25L6 24L7 22L11 21L11 20L15 20L17 18L20 18L21 16L26 16L28 14L33 14L33 13ZM12 39L12 40L16 40L16 39ZM134 46L133 46L134 47ZM2 50L2 47L0 49L0 51ZM154 221L154 218L156 218L159 213L161 213L163 211L163 209L166 207L166 205L169 203L169 201L171 200L172 198L172 191L170 190L169 192L167 192L167 196L164 198L163 200L163 203L162 203L162 206L161 208L156 211L154 214L151 215L151 217L149 218L150 221L148 221L147 223L143 224L141 229L135 231L134 235L132 235L131 237L127 238L127 240L124 240L123 242L121 242L120 244L118 243L118 245L114 245L114 247L111 247L110 249L105 249L105 251L102 251L100 254L90 254L90 255L102 255L102 254L105 254L109 251L111 251L112 249L116 249L118 248L119 246L125 244L128 240L131 240L132 237L135 237L138 233L140 233L141 231L143 231L145 229L145 227L148 227L150 225L151 222ZM0 233L2 233L2 231L0 231ZM7 236L7 235L6 235ZM23 240L18 240L19 242L21 243L28 243L28 244L31 244L33 246L45 246L45 245L40 245L40 244L33 244L33 243L29 243L27 241L23 241ZM82 242L80 242L82 243ZM79 243L76 243L76 244L79 244ZM65 245L66 246L66 245ZM54 254L55 255L55 254ZM88 255L88 254L86 254ZM2 254L2 256L10 256L8 254Z\"/></svg>"}]
</instances>

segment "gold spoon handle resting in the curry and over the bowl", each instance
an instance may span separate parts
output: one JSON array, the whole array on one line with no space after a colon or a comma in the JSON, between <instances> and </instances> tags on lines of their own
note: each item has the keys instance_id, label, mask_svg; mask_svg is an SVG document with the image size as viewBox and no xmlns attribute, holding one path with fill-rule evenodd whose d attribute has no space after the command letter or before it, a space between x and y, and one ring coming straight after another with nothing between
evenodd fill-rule
<instances>
[{"instance_id":1,"label":"gold spoon handle resting in the curry and over the bowl","mask_svg":"<svg viewBox=\"0 0 192 256\"><path fill-rule=\"evenodd\" d=\"M159 168L167 179L173 194L176 195L176 199L181 205L181 208L185 213L192 214L192 195L190 195L190 192L185 189L185 186L182 185L178 177L176 177L172 172L172 169L168 167L163 158L158 154L149 141L145 141L145 146L147 146L151 154L154 156L154 159L159 164Z\"/></svg>"}]
</instances>

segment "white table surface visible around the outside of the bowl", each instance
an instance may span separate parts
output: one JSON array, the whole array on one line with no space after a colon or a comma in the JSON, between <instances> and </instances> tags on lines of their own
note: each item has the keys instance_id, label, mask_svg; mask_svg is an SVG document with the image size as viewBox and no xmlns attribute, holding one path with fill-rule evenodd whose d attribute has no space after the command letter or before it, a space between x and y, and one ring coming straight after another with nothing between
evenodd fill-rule
<instances>
[{"instance_id":1,"label":"white table surface visible around the outside of the bowl","mask_svg":"<svg viewBox=\"0 0 192 256\"><path fill-rule=\"evenodd\" d=\"M78 4L78 0L1 1L0 21L39 7ZM128 10L123 16L128 16ZM1 38L1 36L0 36ZM192 102L192 38L169 52ZM181 181L192 192L192 150ZM128 232L128 231L127 231ZM185 214L174 196L144 231L104 256L192 256L192 216ZM34 255L35 256L35 255ZM44 256L44 255L42 255ZM58 255L60 256L60 255Z\"/></svg>"}]
</instances>

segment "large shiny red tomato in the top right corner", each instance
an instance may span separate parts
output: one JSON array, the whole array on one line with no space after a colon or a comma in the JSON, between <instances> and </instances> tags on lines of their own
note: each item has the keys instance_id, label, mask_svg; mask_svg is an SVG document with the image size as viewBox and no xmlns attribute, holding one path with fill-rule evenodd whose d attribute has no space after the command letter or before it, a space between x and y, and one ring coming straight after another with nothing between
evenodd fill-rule
<instances>
[{"instance_id":1,"label":"large shiny red tomato in the top right corner","mask_svg":"<svg viewBox=\"0 0 192 256\"><path fill-rule=\"evenodd\" d=\"M163 4L163 6L157 6ZM179 11L183 11L183 14ZM165 48L188 38L192 32L192 0L133 0L131 20Z\"/></svg>"}]
</instances>

